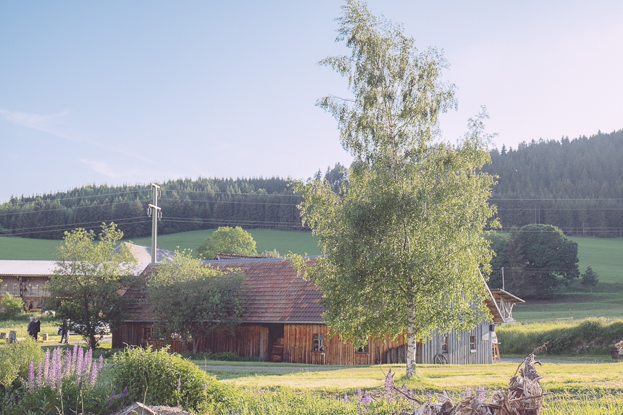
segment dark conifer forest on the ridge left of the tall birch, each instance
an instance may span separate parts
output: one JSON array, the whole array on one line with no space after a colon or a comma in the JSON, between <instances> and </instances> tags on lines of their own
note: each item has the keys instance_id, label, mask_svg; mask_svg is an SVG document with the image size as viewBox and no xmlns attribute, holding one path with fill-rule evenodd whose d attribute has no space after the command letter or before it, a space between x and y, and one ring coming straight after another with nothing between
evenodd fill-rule
<instances>
[{"instance_id":1,"label":"dark conifer forest on the ridge left of the tall birch","mask_svg":"<svg viewBox=\"0 0 623 415\"><path fill-rule=\"evenodd\" d=\"M159 183L163 217L159 233L240 225L302 230L300 198L282 178L198 178ZM77 227L117 223L125 237L151 234L149 185L87 185L68 192L14 197L0 205L0 235L60 239Z\"/></svg>"}]
</instances>

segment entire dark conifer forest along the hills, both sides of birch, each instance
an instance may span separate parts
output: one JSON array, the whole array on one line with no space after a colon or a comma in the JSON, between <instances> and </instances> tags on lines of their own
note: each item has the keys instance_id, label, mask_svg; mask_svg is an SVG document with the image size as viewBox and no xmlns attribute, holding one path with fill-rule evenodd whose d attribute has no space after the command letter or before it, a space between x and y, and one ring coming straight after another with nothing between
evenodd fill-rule
<instances>
[{"instance_id":1,"label":"entire dark conifer forest along the hills, both sides of birch","mask_svg":"<svg viewBox=\"0 0 623 415\"><path fill-rule=\"evenodd\" d=\"M335 189L341 165L327 169ZM623 236L623 130L572 140L539 140L494 149L485 170L498 176L491 203L504 229L556 225L565 234ZM321 172L316 174L321 175ZM198 178L159 183L159 232L242 228L303 230L283 178ZM0 235L60 239L64 230L114 221L129 238L151 232L149 185L87 185L67 192L14 197L0 205Z\"/></svg>"}]
</instances>

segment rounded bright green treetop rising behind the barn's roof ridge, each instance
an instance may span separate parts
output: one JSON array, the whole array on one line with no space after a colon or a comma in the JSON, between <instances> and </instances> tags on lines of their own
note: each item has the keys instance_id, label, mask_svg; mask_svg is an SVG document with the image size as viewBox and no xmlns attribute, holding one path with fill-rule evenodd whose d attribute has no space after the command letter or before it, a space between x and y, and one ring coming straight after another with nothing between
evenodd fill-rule
<instances>
[{"instance_id":1,"label":"rounded bright green treetop rising behind the barn's roof ridge","mask_svg":"<svg viewBox=\"0 0 623 415\"><path fill-rule=\"evenodd\" d=\"M249 232L240 226L221 226L197 248L197 256L203 259L214 259L216 254L255 256L258 252Z\"/></svg>"}]
</instances>

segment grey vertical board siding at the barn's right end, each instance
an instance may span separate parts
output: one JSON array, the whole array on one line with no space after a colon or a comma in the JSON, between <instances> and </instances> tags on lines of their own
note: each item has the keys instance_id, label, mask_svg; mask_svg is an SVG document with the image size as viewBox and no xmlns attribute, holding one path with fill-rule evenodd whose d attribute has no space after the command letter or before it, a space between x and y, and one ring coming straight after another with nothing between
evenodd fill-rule
<instances>
[{"instance_id":1,"label":"grey vertical board siding at the barn's right end","mask_svg":"<svg viewBox=\"0 0 623 415\"><path fill-rule=\"evenodd\" d=\"M475 349L470 347L470 336L474 336ZM447 351L443 350L444 338L447 338ZM449 334L435 333L433 337L420 345L417 362L426 365L435 363L435 356L441 354L450 365L486 365L493 362L491 357L491 335L489 323L482 322L472 331ZM419 350L418 350L419 351Z\"/></svg>"}]
</instances>

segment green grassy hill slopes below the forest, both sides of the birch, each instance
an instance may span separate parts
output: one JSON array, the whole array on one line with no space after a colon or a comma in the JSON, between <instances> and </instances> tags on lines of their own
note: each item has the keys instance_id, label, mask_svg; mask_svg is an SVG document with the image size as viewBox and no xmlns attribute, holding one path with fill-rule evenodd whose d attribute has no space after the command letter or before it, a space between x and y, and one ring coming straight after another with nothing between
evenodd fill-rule
<instances>
[{"instance_id":1,"label":"green grassy hill slopes below the forest, both sides of the birch","mask_svg":"<svg viewBox=\"0 0 623 415\"><path fill-rule=\"evenodd\" d=\"M159 237L160 248L195 250L213 230L194 230ZM318 247L309 232L286 230L251 230L258 250L278 250L318 255ZM590 292L576 281L568 293L551 300L530 300L516 306L514 317L521 322L574 319L584 317L623 318L623 239L620 238L570 238L579 246L579 269L587 266L599 273L599 284ZM54 259L53 254L61 241L0 237L0 259ZM134 239L134 243L149 246L150 238Z\"/></svg>"}]
</instances>

